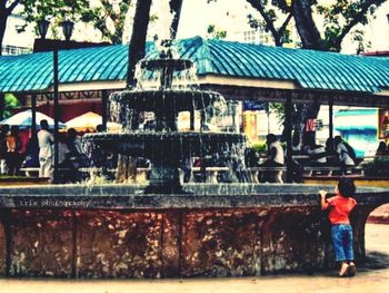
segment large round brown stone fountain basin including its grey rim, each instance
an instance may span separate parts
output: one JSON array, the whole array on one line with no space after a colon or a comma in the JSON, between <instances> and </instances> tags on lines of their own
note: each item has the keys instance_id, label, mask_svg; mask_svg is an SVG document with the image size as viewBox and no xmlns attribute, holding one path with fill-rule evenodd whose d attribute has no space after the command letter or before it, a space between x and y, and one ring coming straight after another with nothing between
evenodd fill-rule
<instances>
[{"instance_id":1,"label":"large round brown stone fountain basin including its grey rim","mask_svg":"<svg viewBox=\"0 0 389 293\"><path fill-rule=\"evenodd\" d=\"M333 265L318 191L332 186L42 186L0 192L0 274L56 277L241 276ZM357 261L365 223L389 191L358 188Z\"/></svg>"}]
</instances>

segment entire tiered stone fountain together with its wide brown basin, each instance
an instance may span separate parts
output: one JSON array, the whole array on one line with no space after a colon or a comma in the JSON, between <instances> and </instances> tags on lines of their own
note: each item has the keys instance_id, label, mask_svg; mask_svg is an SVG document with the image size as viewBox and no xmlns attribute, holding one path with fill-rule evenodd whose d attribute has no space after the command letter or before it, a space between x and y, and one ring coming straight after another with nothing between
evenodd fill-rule
<instances>
[{"instance_id":1,"label":"entire tiered stone fountain together with its wide brown basin","mask_svg":"<svg viewBox=\"0 0 389 293\"><path fill-rule=\"evenodd\" d=\"M150 184L74 184L0 189L0 276L183 277L312 272L333 266L319 189L301 184L180 184L179 158L243 144L238 134L178 131L182 110L205 111L216 92L172 82L188 60L142 61L154 89L111 97L120 116L153 111L156 129L124 120L120 134L84 137L89 147L151 160ZM148 72L150 74L150 72ZM351 215L357 262L365 224L389 202L385 188L359 187Z\"/></svg>"}]
</instances>

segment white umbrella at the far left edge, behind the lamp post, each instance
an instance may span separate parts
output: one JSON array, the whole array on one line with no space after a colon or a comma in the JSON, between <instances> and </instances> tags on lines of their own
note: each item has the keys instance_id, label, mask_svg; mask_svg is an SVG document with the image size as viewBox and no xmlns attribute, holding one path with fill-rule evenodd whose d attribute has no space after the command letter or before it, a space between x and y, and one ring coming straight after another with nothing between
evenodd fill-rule
<instances>
[{"instance_id":1,"label":"white umbrella at the far left edge, behind the lamp post","mask_svg":"<svg viewBox=\"0 0 389 293\"><path fill-rule=\"evenodd\" d=\"M47 120L49 123L50 128L54 128L54 120L47 116L43 113L36 111L36 121L37 121L37 129L40 129L40 121L41 120ZM32 111L31 109L18 113L7 119L3 119L0 121L1 125L8 124L10 126L17 125L19 126L20 129L27 129L31 127L32 124ZM66 125L61 121L58 121L58 127L59 128L66 128Z\"/></svg>"}]
</instances>

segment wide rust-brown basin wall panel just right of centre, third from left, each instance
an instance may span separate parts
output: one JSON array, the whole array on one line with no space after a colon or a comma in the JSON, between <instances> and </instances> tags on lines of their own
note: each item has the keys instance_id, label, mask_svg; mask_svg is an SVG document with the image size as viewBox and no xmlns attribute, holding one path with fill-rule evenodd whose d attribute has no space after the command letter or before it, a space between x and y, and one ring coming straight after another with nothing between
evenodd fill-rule
<instances>
[{"instance_id":1,"label":"wide rust-brown basin wall panel just right of centre, third from left","mask_svg":"<svg viewBox=\"0 0 389 293\"><path fill-rule=\"evenodd\" d=\"M259 275L261 214L233 209L186 214L181 275Z\"/></svg>"}]
</instances>

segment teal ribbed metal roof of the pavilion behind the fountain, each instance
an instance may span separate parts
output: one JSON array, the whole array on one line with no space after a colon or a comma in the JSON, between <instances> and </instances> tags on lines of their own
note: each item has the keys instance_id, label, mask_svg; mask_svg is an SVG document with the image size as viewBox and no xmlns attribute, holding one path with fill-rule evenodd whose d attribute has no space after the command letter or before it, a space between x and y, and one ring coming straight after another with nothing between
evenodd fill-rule
<instances>
[{"instance_id":1,"label":"teal ribbed metal roof of the pavilion behind the fountain","mask_svg":"<svg viewBox=\"0 0 389 293\"><path fill-rule=\"evenodd\" d=\"M379 92L389 88L389 59L347 56L207 40L200 37L174 42L181 58L196 62L198 75L209 74L267 80L289 80L306 89ZM63 50L59 52L61 84L124 80L128 46ZM148 58L158 56L149 43ZM52 85L52 53L0 57L0 91L44 90Z\"/></svg>"}]
</instances>

